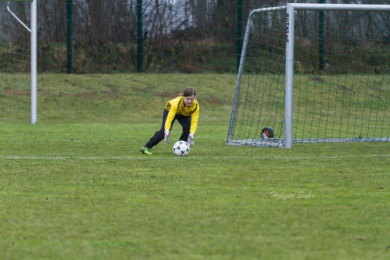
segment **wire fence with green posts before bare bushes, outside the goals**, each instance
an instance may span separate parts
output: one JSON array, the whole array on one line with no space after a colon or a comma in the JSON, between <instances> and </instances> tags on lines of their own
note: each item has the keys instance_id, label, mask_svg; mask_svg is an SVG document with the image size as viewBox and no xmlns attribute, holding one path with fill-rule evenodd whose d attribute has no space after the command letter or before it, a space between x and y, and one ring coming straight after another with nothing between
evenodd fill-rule
<instances>
[{"instance_id":1,"label":"wire fence with green posts before bare bushes, outside the goals","mask_svg":"<svg viewBox=\"0 0 390 260\"><path fill-rule=\"evenodd\" d=\"M37 0L38 71L236 72L248 14L286 2L388 0ZM28 5L29 2L12 2ZM26 14L18 14L28 19ZM0 42L7 41L2 19ZM3 44L4 45L4 44Z\"/></svg>"}]
</instances>

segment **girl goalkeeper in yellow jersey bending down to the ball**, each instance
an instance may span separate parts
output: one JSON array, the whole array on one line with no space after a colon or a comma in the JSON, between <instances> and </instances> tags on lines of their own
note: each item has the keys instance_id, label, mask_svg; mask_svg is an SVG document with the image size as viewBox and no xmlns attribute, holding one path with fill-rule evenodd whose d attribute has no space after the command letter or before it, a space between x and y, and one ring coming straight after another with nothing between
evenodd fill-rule
<instances>
[{"instance_id":1,"label":"girl goalkeeper in yellow jersey bending down to the ball","mask_svg":"<svg viewBox=\"0 0 390 260\"><path fill-rule=\"evenodd\" d=\"M154 145L165 140L169 143L169 134L175 120L183 127L183 133L179 140L186 141L188 145L193 145L194 134L198 125L199 104L194 88L188 87L183 94L167 101L163 113L163 124L161 129L154 133L154 136L141 148L144 154L152 155L151 149Z\"/></svg>"}]
</instances>

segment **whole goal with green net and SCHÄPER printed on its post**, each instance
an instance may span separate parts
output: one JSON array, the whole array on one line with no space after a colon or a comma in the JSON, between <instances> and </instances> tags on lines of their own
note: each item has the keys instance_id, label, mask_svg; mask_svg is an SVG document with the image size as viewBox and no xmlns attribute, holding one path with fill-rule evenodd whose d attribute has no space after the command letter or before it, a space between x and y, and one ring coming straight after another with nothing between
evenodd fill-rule
<instances>
[{"instance_id":1,"label":"whole goal with green net and SCH\u00c4PER printed on its post","mask_svg":"<svg viewBox=\"0 0 390 260\"><path fill-rule=\"evenodd\" d=\"M390 141L390 5L248 17L227 145Z\"/></svg>"}]
</instances>

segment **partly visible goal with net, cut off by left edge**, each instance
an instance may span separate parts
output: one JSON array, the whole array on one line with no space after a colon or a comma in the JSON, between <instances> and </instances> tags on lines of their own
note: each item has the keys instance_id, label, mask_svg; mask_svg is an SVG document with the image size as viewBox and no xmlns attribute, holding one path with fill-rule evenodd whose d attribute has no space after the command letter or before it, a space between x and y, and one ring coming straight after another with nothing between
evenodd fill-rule
<instances>
[{"instance_id":1,"label":"partly visible goal with net, cut off by left edge","mask_svg":"<svg viewBox=\"0 0 390 260\"><path fill-rule=\"evenodd\" d=\"M36 122L36 0L0 0L0 123Z\"/></svg>"}]
</instances>

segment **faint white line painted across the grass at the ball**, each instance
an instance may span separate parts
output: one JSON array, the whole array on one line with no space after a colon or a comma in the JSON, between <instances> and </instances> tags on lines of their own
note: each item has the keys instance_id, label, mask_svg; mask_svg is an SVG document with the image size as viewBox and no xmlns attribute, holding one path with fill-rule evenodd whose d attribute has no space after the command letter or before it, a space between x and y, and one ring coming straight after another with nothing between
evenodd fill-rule
<instances>
[{"instance_id":1,"label":"faint white line painted across the grass at the ball","mask_svg":"<svg viewBox=\"0 0 390 260\"><path fill-rule=\"evenodd\" d=\"M367 157L390 157L390 154L370 155L346 155L346 156L186 156L189 159L344 159L344 158L367 158ZM25 159L25 160L141 160L141 159L176 159L172 157L158 156L0 156L0 159Z\"/></svg>"}]
</instances>

